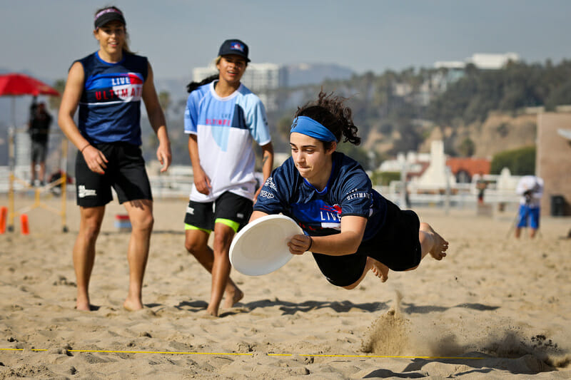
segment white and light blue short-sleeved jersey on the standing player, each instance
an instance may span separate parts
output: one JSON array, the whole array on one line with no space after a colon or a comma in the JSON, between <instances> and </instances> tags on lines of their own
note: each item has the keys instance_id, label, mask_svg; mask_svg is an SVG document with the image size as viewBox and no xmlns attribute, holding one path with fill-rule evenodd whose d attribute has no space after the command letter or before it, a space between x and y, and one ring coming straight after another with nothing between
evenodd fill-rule
<instances>
[{"instance_id":1,"label":"white and light blue short-sleeved jersey on the standing player","mask_svg":"<svg viewBox=\"0 0 571 380\"><path fill-rule=\"evenodd\" d=\"M215 83L191 92L186 103L184 131L197 136L198 158L212 187L204 195L193 185L190 199L211 202L226 191L252 198L256 190L252 142L266 145L271 141L266 110L246 86L221 98Z\"/></svg>"}]
</instances>

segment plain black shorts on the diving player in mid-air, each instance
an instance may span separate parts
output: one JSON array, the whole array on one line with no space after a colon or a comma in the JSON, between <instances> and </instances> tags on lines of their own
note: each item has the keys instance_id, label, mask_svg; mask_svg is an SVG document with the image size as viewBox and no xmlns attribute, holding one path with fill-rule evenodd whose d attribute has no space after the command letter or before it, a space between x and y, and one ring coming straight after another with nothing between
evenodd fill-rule
<instances>
[{"instance_id":1,"label":"plain black shorts on the diving player in mid-air","mask_svg":"<svg viewBox=\"0 0 571 380\"><path fill-rule=\"evenodd\" d=\"M420 264L422 252L418 239L419 228L420 220L414 211L400 210L387 200L383 227L375 236L362 242L357 252L344 256L314 253L313 257L331 284L346 287L361 277L367 257L373 257L397 272Z\"/></svg>"}]
</instances>

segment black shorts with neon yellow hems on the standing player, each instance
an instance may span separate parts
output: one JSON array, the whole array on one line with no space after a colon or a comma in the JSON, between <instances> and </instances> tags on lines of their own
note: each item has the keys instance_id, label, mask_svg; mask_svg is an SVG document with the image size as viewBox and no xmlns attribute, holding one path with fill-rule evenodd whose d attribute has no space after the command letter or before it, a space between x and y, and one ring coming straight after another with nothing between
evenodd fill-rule
<instances>
[{"instance_id":1,"label":"black shorts with neon yellow hems on the standing player","mask_svg":"<svg viewBox=\"0 0 571 380\"><path fill-rule=\"evenodd\" d=\"M206 232L214 230L214 224L223 222L238 232L250 220L253 202L251 199L236 195L233 192L223 192L213 202L188 202L184 223L186 229L199 229ZM232 222L228 223L227 221Z\"/></svg>"}]
</instances>

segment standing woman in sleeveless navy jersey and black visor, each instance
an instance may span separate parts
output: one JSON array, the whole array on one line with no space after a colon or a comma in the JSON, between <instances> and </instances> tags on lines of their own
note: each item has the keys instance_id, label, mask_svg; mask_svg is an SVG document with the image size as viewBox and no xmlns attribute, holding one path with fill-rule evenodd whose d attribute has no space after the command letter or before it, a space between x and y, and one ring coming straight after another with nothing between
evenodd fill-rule
<instances>
[{"instance_id":1,"label":"standing woman in sleeveless navy jersey and black visor","mask_svg":"<svg viewBox=\"0 0 571 380\"><path fill-rule=\"evenodd\" d=\"M151 185L141 155L141 99L158 137L158 160L167 170L171 145L147 58L131 53L123 13L114 6L96 11L95 53L79 59L69 75L59 110L59 125L78 148L76 191L81 222L74 245L76 307L89 310L89 279L105 205L116 190L131 220L129 284L123 307L141 309L141 288L153 229ZM79 106L78 123L74 114Z\"/></svg>"}]
</instances>

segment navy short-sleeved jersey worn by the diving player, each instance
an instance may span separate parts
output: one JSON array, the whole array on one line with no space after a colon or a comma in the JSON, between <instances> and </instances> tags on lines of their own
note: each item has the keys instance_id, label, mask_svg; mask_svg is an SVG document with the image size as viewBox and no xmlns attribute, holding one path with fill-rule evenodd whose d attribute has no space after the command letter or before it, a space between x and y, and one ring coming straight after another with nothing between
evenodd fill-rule
<instances>
[{"instance_id":1,"label":"navy short-sleeved jersey worn by the diving player","mask_svg":"<svg viewBox=\"0 0 571 380\"><path fill-rule=\"evenodd\" d=\"M338 234L345 215L366 217L365 241L383 227L386 200L373 190L367 173L355 160L335 152L325 189L315 189L301 177L293 158L288 158L266 180L253 209L266 214L281 212L311 236Z\"/></svg>"}]
</instances>

